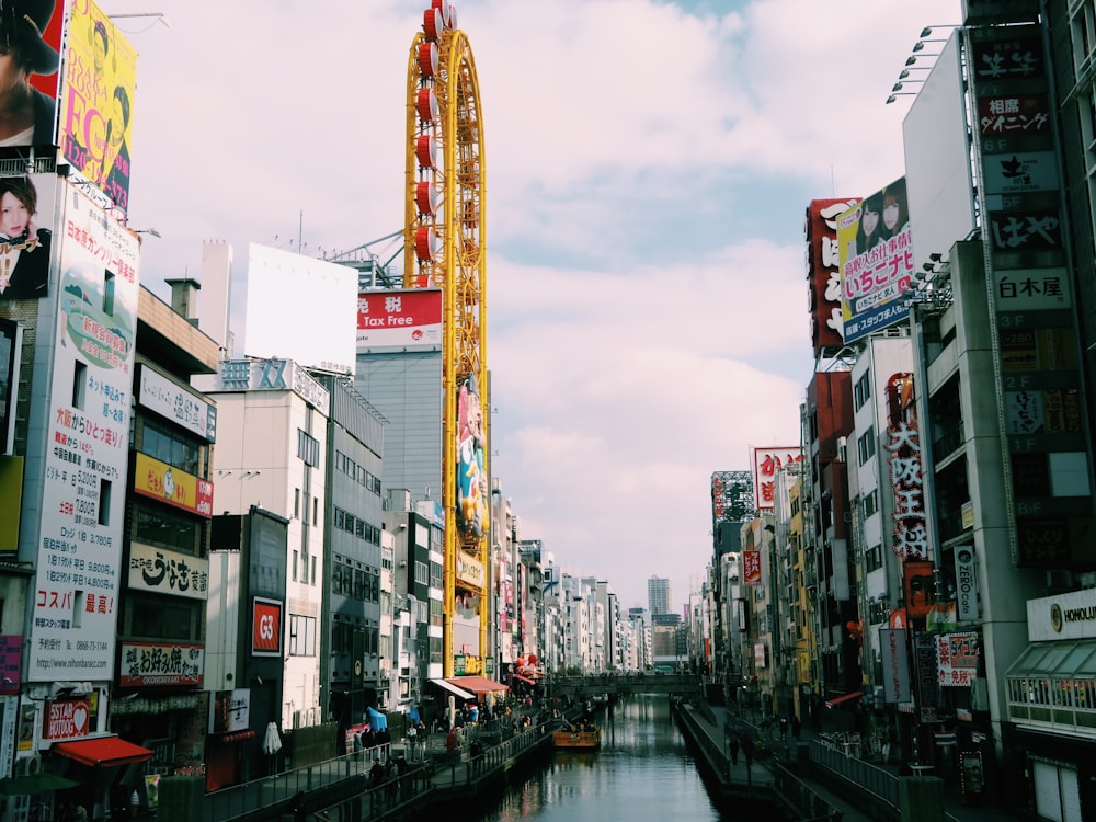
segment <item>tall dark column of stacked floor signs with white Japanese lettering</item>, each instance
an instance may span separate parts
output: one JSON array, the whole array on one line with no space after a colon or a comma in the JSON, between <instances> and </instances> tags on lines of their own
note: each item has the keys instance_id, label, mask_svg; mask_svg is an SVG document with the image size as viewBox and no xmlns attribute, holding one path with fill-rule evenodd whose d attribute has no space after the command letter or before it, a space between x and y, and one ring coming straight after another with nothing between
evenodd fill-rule
<instances>
[{"instance_id":1,"label":"tall dark column of stacked floor signs with white Japanese lettering","mask_svg":"<svg viewBox=\"0 0 1096 822\"><path fill-rule=\"evenodd\" d=\"M1042 31L978 27L964 36L1013 561L1091 563L1092 460Z\"/></svg>"}]
</instances>

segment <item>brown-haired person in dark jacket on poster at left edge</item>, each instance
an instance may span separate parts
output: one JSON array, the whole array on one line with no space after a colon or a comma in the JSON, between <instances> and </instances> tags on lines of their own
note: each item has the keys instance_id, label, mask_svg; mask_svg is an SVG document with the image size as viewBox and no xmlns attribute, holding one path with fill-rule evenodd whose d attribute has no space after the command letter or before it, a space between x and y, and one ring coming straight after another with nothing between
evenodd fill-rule
<instances>
[{"instance_id":1,"label":"brown-haired person in dark jacket on poster at left edge","mask_svg":"<svg viewBox=\"0 0 1096 822\"><path fill-rule=\"evenodd\" d=\"M44 297L50 232L32 221L38 193L25 176L0 178L0 299Z\"/></svg>"}]
</instances>

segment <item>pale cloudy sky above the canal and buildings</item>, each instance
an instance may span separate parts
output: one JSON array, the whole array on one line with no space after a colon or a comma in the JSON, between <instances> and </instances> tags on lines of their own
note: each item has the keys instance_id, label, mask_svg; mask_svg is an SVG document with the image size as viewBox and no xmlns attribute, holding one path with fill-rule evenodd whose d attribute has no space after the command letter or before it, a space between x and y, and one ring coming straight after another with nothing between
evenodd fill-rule
<instances>
[{"instance_id":1,"label":"pale cloudy sky above the canal and buildings","mask_svg":"<svg viewBox=\"0 0 1096 822\"><path fill-rule=\"evenodd\" d=\"M160 233L153 293L197 277L209 240L235 250L233 318L251 242L398 251L426 0L100 5L139 55L129 226ZM960 1L454 8L486 140L492 473L563 571L623 607L666 576L683 604L711 561L712 472L799 442L807 206L904 173L913 98L884 101Z\"/></svg>"}]
</instances>

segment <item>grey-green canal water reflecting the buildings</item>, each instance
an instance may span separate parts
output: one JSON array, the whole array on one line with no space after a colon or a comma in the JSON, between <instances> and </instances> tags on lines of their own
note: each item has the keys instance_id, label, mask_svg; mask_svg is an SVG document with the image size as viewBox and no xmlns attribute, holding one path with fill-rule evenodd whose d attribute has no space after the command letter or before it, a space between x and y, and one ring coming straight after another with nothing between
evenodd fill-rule
<instances>
[{"instance_id":1,"label":"grey-green canal water reflecting the buildings","mask_svg":"<svg viewBox=\"0 0 1096 822\"><path fill-rule=\"evenodd\" d=\"M557 752L551 763L510 786L482 822L718 822L669 698L636 696L597 715L597 753ZM738 820L738 822L745 822Z\"/></svg>"}]
</instances>

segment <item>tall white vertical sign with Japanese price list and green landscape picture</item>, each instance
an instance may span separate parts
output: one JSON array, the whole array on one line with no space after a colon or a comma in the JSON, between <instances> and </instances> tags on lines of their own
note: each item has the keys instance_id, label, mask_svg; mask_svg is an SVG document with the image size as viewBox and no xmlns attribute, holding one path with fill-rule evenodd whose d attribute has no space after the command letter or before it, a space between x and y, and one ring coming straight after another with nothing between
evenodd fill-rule
<instances>
[{"instance_id":1,"label":"tall white vertical sign with Japanese price list and green landscape picture","mask_svg":"<svg viewBox=\"0 0 1096 822\"><path fill-rule=\"evenodd\" d=\"M58 184L42 175L39 189ZM53 178L53 183L46 181ZM110 678L122 575L137 240L65 192L27 680Z\"/></svg>"}]
</instances>

